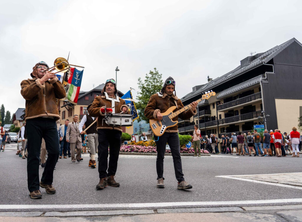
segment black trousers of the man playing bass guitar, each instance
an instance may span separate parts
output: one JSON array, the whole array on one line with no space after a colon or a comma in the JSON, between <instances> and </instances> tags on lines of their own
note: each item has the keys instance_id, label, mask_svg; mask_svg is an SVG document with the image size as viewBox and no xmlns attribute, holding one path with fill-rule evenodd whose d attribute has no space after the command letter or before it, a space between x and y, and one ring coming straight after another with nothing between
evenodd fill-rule
<instances>
[{"instance_id":1,"label":"black trousers of the man playing bass guitar","mask_svg":"<svg viewBox=\"0 0 302 222\"><path fill-rule=\"evenodd\" d=\"M178 182L184 181L184 174L182 173L182 159L180 158L180 146L179 146L179 137L178 133L164 133L161 137L159 137L156 143L156 171L157 171L157 179L163 177L164 173L164 158L166 151L166 144L168 143L170 146L170 150L173 157L174 163L174 171L175 177Z\"/></svg>"}]
</instances>

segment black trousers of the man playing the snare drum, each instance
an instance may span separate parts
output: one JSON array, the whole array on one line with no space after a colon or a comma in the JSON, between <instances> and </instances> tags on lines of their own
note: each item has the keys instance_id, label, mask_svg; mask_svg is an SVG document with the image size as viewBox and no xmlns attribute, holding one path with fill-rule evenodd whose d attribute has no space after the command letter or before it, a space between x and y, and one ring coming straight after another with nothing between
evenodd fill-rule
<instances>
[{"instance_id":1,"label":"black trousers of the man playing the snare drum","mask_svg":"<svg viewBox=\"0 0 302 222\"><path fill-rule=\"evenodd\" d=\"M98 173L100 179L116 173L120 144L122 142L121 135L122 132L119 130L98 129Z\"/></svg>"}]
</instances>

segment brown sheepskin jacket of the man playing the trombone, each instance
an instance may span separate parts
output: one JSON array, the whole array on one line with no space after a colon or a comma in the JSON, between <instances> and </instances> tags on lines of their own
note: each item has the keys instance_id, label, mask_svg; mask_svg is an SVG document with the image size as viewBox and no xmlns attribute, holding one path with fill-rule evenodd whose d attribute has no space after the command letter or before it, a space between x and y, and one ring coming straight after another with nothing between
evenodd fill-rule
<instances>
[{"instance_id":1,"label":"brown sheepskin jacket of the man playing the trombone","mask_svg":"<svg viewBox=\"0 0 302 222\"><path fill-rule=\"evenodd\" d=\"M60 119L57 99L65 97L65 89L58 78L44 82L40 79L23 80L21 82L21 95L25 101L25 120L37 117L54 117Z\"/></svg>"}]
</instances>

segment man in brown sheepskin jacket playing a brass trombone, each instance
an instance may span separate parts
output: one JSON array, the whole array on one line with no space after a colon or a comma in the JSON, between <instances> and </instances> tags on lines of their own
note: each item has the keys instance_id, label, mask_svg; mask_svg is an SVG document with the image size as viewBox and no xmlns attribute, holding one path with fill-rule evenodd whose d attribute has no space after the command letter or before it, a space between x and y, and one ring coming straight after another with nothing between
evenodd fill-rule
<instances>
[{"instance_id":1,"label":"man in brown sheepskin jacket playing a brass trombone","mask_svg":"<svg viewBox=\"0 0 302 222\"><path fill-rule=\"evenodd\" d=\"M25 121L27 132L27 184L32 199L42 198L39 187L54 194L53 170L59 158L59 138L56 121L60 119L56 98L65 97L63 85L56 75L48 71L45 62L33 67L32 79L21 82L21 95L25 99ZM39 181L39 155L44 138L48 158Z\"/></svg>"}]
</instances>

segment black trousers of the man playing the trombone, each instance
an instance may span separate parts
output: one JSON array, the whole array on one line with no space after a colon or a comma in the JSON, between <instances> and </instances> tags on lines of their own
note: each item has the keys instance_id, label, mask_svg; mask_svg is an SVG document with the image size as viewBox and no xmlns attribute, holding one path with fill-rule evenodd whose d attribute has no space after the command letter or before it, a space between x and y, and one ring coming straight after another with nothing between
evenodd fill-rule
<instances>
[{"instance_id":1,"label":"black trousers of the man playing the trombone","mask_svg":"<svg viewBox=\"0 0 302 222\"><path fill-rule=\"evenodd\" d=\"M30 192L39 190L39 156L42 138L45 140L48 157L42 174L41 182L53 183L53 169L59 158L59 137L56 121L50 118L33 118L26 121L27 133L27 185Z\"/></svg>"}]
</instances>

